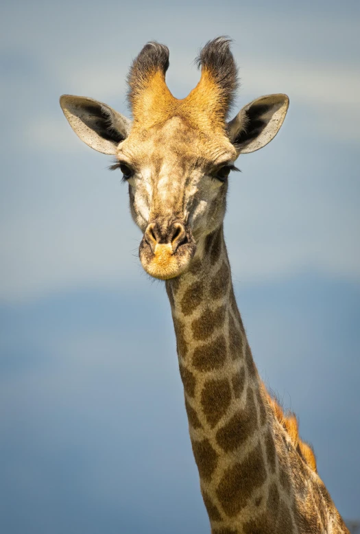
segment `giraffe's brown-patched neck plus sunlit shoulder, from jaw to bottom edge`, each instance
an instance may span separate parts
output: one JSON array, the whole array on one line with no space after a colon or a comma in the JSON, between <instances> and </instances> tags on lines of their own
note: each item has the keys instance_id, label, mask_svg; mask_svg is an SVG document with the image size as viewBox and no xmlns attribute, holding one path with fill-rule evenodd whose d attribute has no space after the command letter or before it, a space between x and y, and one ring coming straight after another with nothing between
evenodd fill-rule
<instances>
[{"instance_id":1,"label":"giraffe's brown-patched neck plus sunlit shoulder, from jaw to bottom edge","mask_svg":"<svg viewBox=\"0 0 360 534\"><path fill-rule=\"evenodd\" d=\"M235 301L222 227L166 288L212 534L348 533L267 401Z\"/></svg>"}]
</instances>

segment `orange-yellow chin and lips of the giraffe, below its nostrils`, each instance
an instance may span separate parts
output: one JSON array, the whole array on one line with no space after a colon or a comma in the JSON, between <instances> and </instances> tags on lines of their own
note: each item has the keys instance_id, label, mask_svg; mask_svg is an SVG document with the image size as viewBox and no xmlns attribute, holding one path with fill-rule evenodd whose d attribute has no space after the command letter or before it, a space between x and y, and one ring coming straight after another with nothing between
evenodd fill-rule
<instances>
[{"instance_id":1,"label":"orange-yellow chin and lips of the giraffe, below its nostrils","mask_svg":"<svg viewBox=\"0 0 360 534\"><path fill-rule=\"evenodd\" d=\"M141 242L139 256L141 265L148 275L160 280L169 280L182 275L187 270L195 247L189 244L179 246L175 253L171 244L156 244L154 252Z\"/></svg>"}]
</instances>

